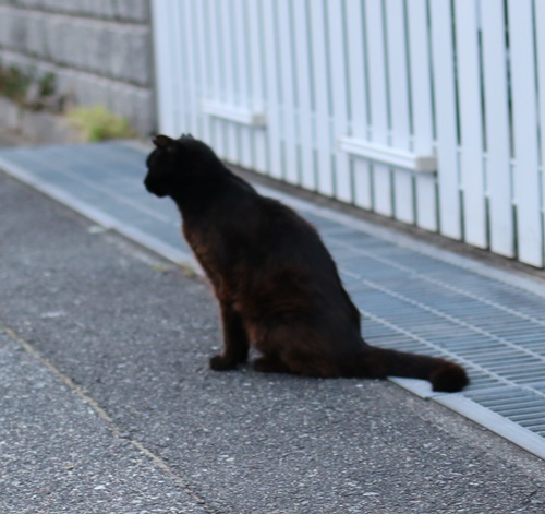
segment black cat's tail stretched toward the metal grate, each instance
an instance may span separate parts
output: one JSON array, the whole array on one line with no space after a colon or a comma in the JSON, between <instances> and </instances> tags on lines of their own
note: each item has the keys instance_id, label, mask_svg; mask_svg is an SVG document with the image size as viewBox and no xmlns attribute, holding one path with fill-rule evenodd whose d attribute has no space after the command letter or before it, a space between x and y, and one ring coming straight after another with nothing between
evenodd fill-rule
<instances>
[{"instance_id":1,"label":"black cat's tail stretched toward the metal grate","mask_svg":"<svg viewBox=\"0 0 545 514\"><path fill-rule=\"evenodd\" d=\"M356 374L385 379L404 376L432 383L434 391L455 393L470 381L465 370L449 360L368 346L359 359Z\"/></svg>"}]
</instances>

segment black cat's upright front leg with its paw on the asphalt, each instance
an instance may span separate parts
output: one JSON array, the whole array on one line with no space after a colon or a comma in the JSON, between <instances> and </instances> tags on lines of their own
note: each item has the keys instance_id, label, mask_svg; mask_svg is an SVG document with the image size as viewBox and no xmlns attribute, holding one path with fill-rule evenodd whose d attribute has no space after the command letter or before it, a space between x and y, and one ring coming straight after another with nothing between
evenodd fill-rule
<instances>
[{"instance_id":1,"label":"black cat's upright front leg with its paw on the asphalt","mask_svg":"<svg viewBox=\"0 0 545 514\"><path fill-rule=\"evenodd\" d=\"M242 316L227 302L220 303L223 328L223 352L210 358L210 369L227 371L247 360L249 338Z\"/></svg>"}]
</instances>

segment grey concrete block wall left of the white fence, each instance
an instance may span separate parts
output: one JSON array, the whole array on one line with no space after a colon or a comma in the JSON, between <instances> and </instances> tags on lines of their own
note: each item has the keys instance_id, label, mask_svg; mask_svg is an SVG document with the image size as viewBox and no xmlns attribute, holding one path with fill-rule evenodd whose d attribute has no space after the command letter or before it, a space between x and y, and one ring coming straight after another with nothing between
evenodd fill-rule
<instances>
[{"instance_id":1,"label":"grey concrete block wall left of the white fence","mask_svg":"<svg viewBox=\"0 0 545 514\"><path fill-rule=\"evenodd\" d=\"M0 59L53 72L78 105L155 128L149 0L0 0Z\"/></svg>"}]
</instances>

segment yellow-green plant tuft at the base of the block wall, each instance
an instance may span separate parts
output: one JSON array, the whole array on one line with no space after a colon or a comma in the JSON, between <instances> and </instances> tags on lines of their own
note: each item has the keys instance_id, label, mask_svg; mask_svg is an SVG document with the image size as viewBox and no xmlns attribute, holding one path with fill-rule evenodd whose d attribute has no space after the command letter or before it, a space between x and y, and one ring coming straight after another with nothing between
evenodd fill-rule
<instances>
[{"instance_id":1,"label":"yellow-green plant tuft at the base of the block wall","mask_svg":"<svg viewBox=\"0 0 545 514\"><path fill-rule=\"evenodd\" d=\"M76 107L68 112L70 123L82 132L85 141L134 138L129 121L102 106Z\"/></svg>"}]
</instances>

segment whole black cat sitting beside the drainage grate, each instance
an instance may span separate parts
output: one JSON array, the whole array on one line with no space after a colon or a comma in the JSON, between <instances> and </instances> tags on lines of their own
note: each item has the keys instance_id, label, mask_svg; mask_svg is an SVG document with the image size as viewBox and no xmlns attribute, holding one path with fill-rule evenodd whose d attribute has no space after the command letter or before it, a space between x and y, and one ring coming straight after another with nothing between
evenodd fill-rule
<instances>
[{"instance_id":1,"label":"whole black cat sitting beside the drainage grate","mask_svg":"<svg viewBox=\"0 0 545 514\"><path fill-rule=\"evenodd\" d=\"M235 368L254 345L257 371L410 376L447 392L469 383L455 362L367 345L334 260L291 208L261 196L192 136L157 135L154 144L145 186L177 203L219 301L225 349L211 369Z\"/></svg>"}]
</instances>

